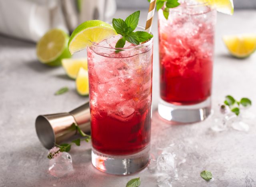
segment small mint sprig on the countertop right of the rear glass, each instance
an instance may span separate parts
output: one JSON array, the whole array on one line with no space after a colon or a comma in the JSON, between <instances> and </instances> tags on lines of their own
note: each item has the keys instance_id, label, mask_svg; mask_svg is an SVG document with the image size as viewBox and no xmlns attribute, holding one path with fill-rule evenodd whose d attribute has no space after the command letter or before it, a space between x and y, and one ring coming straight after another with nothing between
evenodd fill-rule
<instances>
[{"instance_id":1,"label":"small mint sprig on the countertop right of the rear glass","mask_svg":"<svg viewBox=\"0 0 256 187\"><path fill-rule=\"evenodd\" d=\"M247 107L252 105L252 101L246 97L243 97L242 99L240 99L240 101L237 101L231 95L227 95L225 97L224 104L227 105L233 113L235 113L236 115L239 115L240 105Z\"/></svg>"}]
</instances>

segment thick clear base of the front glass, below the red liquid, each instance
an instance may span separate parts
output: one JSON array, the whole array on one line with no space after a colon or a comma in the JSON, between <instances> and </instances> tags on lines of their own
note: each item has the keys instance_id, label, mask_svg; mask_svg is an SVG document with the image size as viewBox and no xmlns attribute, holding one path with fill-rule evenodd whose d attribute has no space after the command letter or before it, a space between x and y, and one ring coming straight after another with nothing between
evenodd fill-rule
<instances>
[{"instance_id":1,"label":"thick clear base of the front glass, below the red liquid","mask_svg":"<svg viewBox=\"0 0 256 187\"><path fill-rule=\"evenodd\" d=\"M128 175L140 171L148 165L150 145L132 155L106 155L92 148L92 165L114 175Z\"/></svg>"}]
</instances>

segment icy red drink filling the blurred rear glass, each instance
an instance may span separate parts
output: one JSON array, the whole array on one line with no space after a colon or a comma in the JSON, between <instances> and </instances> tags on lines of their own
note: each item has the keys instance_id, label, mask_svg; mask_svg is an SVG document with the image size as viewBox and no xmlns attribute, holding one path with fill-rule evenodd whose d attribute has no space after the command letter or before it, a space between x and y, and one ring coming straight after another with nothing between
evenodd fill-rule
<instances>
[{"instance_id":1,"label":"icy red drink filling the blurred rear glass","mask_svg":"<svg viewBox=\"0 0 256 187\"><path fill-rule=\"evenodd\" d=\"M169 103L190 105L211 95L215 12L170 16L159 13L160 96ZM169 19L170 19L169 17Z\"/></svg>"}]
</instances>

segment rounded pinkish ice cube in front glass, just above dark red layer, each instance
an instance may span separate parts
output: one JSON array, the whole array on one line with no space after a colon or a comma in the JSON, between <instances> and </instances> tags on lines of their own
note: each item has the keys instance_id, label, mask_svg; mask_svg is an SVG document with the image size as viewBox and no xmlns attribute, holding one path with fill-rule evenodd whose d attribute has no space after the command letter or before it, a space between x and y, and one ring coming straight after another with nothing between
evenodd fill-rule
<instances>
[{"instance_id":1,"label":"rounded pinkish ice cube in front glass, just above dark red layer","mask_svg":"<svg viewBox=\"0 0 256 187\"><path fill-rule=\"evenodd\" d=\"M134 105L133 99L120 102L116 105L116 110L118 112L118 115L120 115L122 118L126 118L132 115L135 111L134 108L135 108L135 105Z\"/></svg>"}]
</instances>

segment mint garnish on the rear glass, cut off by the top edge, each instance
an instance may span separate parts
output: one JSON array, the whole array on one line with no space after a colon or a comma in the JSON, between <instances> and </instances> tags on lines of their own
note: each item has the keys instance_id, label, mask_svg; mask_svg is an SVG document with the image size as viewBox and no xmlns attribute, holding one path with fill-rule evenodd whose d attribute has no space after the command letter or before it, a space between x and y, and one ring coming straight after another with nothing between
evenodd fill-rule
<instances>
[{"instance_id":1,"label":"mint garnish on the rear glass, cut off by the top edge","mask_svg":"<svg viewBox=\"0 0 256 187\"><path fill-rule=\"evenodd\" d=\"M148 0L148 2L150 2L150 0ZM164 7L163 14L166 20L168 20L169 17L169 8L175 8L179 5L178 0L156 0L156 10L158 11Z\"/></svg>"}]
</instances>

